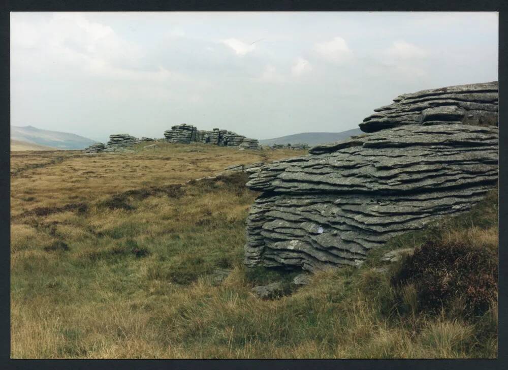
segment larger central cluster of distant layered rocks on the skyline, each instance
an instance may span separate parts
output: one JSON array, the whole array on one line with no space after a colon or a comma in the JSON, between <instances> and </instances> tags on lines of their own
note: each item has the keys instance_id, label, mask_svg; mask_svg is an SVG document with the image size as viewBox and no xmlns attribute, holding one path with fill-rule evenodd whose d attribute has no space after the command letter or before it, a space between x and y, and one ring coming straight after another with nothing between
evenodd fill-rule
<instances>
[{"instance_id":1,"label":"larger central cluster of distant layered rocks on the skyline","mask_svg":"<svg viewBox=\"0 0 508 370\"><path fill-rule=\"evenodd\" d=\"M219 146L236 146L244 149L261 148L257 139L249 139L228 130L198 130L195 126L186 124L173 126L171 130L164 132L164 137L170 143L189 144L200 142Z\"/></svg>"}]
</instances>

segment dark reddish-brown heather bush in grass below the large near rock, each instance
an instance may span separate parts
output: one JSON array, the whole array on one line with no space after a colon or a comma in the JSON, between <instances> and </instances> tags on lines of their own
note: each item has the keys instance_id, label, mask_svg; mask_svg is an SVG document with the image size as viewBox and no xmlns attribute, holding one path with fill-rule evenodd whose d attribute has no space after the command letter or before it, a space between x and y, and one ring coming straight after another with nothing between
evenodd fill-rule
<instances>
[{"instance_id":1,"label":"dark reddish-brown heather bush in grass below the large near rock","mask_svg":"<svg viewBox=\"0 0 508 370\"><path fill-rule=\"evenodd\" d=\"M414 285L419 310L461 311L466 318L485 314L497 301L497 256L464 242L429 241L406 257L392 284Z\"/></svg>"}]
</instances>

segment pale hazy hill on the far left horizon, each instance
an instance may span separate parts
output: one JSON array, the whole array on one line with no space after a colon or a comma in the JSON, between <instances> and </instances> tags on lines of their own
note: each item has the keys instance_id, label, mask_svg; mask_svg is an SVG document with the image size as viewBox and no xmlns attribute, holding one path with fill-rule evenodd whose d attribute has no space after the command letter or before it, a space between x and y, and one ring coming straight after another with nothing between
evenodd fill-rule
<instances>
[{"instance_id":1,"label":"pale hazy hill on the far left horizon","mask_svg":"<svg viewBox=\"0 0 508 370\"><path fill-rule=\"evenodd\" d=\"M56 149L84 149L96 142L83 136L67 132L41 130L33 126L11 126L11 139Z\"/></svg>"}]
</instances>

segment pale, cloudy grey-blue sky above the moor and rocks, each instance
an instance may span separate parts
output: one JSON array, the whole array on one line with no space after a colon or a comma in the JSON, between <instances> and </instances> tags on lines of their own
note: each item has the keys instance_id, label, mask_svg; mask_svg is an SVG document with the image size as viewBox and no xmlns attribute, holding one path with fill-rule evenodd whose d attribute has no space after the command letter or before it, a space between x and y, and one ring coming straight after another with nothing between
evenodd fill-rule
<instances>
[{"instance_id":1,"label":"pale, cloudy grey-blue sky above the moor and rocks","mask_svg":"<svg viewBox=\"0 0 508 370\"><path fill-rule=\"evenodd\" d=\"M495 12L12 12L11 125L357 128L400 94L498 79Z\"/></svg>"}]
</instances>

